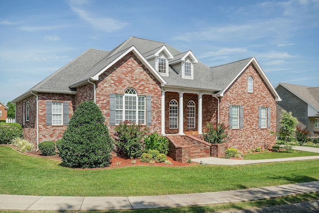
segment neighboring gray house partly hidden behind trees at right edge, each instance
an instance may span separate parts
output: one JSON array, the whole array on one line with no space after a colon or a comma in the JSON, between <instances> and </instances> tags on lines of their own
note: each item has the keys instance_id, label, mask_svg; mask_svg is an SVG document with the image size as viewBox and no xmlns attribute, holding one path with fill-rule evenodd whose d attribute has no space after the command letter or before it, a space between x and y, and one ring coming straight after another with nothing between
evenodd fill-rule
<instances>
[{"instance_id":1,"label":"neighboring gray house partly hidden behind trees at right edge","mask_svg":"<svg viewBox=\"0 0 319 213\"><path fill-rule=\"evenodd\" d=\"M319 136L319 87L279 83L275 89L282 98L277 103L277 123L284 109L293 113L300 127L308 128L310 136ZM277 126L277 132L279 130L280 126Z\"/></svg>"}]
</instances>

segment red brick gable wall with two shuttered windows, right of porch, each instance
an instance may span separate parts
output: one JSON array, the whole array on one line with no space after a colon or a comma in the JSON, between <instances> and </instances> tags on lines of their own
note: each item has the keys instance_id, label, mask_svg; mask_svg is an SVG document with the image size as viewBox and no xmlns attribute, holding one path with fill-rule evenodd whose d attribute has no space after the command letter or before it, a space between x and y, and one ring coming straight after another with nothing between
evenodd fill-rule
<instances>
[{"instance_id":1,"label":"red brick gable wall with two shuttered windows, right of porch","mask_svg":"<svg viewBox=\"0 0 319 213\"><path fill-rule=\"evenodd\" d=\"M254 79L254 92L247 92L247 78ZM256 68L251 64L233 83L220 99L220 122L229 125L229 105L243 106L243 129L228 129L230 140L226 148L234 147L241 152L255 150L257 147L271 148L276 143L276 102L267 85ZM258 128L258 107L270 107L271 126L267 129Z\"/></svg>"}]
</instances>

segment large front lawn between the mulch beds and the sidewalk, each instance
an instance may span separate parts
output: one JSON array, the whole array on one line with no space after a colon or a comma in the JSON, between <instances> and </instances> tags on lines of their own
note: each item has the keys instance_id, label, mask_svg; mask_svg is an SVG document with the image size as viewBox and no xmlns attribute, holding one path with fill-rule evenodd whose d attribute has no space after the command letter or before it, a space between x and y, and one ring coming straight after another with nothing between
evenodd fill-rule
<instances>
[{"instance_id":1,"label":"large front lawn between the mulch beds and the sidewalk","mask_svg":"<svg viewBox=\"0 0 319 213\"><path fill-rule=\"evenodd\" d=\"M319 180L319 160L242 166L70 169L0 146L0 194L149 196L217 192ZM298 168L298 169L297 169Z\"/></svg>"}]
</instances>

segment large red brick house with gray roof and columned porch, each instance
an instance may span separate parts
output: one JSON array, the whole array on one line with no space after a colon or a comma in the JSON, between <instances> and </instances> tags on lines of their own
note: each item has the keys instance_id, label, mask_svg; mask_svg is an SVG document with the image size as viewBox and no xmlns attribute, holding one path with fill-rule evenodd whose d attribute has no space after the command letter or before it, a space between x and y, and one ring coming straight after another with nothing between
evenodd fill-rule
<instances>
[{"instance_id":1,"label":"large red brick house with gray roof and columned porch","mask_svg":"<svg viewBox=\"0 0 319 213\"><path fill-rule=\"evenodd\" d=\"M185 154L181 141L199 141L202 156L212 155L211 144L195 137L207 122L229 127L224 148L245 152L276 142L270 132L280 97L254 57L208 67L191 50L130 37L111 51L88 49L12 102L24 137L40 143L60 139L87 100L99 106L111 135L124 120L141 123L167 135L173 157L183 152L180 161L200 157Z\"/></svg>"}]
</instances>

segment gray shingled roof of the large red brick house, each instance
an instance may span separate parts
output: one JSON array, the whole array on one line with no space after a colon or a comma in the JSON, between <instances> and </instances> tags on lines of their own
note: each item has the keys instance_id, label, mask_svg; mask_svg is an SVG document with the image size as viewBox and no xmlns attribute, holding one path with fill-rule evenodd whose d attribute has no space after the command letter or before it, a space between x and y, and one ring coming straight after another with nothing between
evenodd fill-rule
<instances>
[{"instance_id":1,"label":"gray shingled roof of the large red brick house","mask_svg":"<svg viewBox=\"0 0 319 213\"><path fill-rule=\"evenodd\" d=\"M143 38L130 37L111 51L88 49L80 56L48 76L46 79L15 98L18 101L33 92L76 93L72 86L86 83L103 68L112 63L122 53L134 46L144 57L150 56L162 47L166 46L174 56L169 61L180 59L186 52L181 52L166 43ZM234 78L248 65L252 58L241 61L208 67L203 63L194 63L193 79L183 79L180 70L173 70L169 66L169 76L162 76L167 86L189 87L211 90L215 93L222 92L234 80Z\"/></svg>"}]
</instances>

